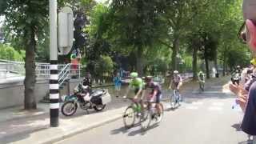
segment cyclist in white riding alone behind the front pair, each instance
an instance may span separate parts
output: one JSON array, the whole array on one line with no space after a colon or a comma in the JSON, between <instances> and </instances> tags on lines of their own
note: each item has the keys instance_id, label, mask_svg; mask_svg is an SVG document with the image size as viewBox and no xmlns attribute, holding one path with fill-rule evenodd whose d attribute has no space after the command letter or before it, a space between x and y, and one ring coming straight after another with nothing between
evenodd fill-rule
<instances>
[{"instance_id":1,"label":"cyclist in white riding alone behind the front pair","mask_svg":"<svg viewBox=\"0 0 256 144\"><path fill-rule=\"evenodd\" d=\"M174 70L174 76L171 78L169 89L179 90L182 86L182 76L178 74L178 70ZM178 94L179 100L182 101L181 94Z\"/></svg>"}]
</instances>

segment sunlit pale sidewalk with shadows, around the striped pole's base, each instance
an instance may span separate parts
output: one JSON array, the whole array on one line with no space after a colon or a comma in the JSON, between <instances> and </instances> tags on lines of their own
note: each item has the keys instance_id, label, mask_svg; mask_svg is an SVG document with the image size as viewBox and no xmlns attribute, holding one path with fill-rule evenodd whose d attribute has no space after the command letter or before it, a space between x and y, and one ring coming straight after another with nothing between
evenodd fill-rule
<instances>
[{"instance_id":1,"label":"sunlit pale sidewalk with shadows, around the striped pole's base","mask_svg":"<svg viewBox=\"0 0 256 144\"><path fill-rule=\"evenodd\" d=\"M122 118L125 107L102 111L100 113L60 118L59 127L49 127L49 116L39 115L36 118L25 118L0 124L0 143L52 143L70 137L85 130L101 126Z\"/></svg>"}]
</instances>

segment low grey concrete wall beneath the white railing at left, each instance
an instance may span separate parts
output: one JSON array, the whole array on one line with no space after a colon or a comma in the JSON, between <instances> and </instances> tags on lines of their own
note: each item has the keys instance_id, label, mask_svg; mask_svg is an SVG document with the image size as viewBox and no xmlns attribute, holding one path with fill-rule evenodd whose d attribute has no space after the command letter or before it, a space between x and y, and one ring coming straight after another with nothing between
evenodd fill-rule
<instances>
[{"instance_id":1,"label":"low grey concrete wall beneath the white railing at left","mask_svg":"<svg viewBox=\"0 0 256 144\"><path fill-rule=\"evenodd\" d=\"M70 91L77 86L79 80L70 81ZM60 90L60 95L67 94L67 85L64 86L63 90ZM37 80L35 85L35 94L37 101L42 100L46 94L49 93L49 81L48 80ZM0 109L22 106L24 103L24 85L22 81L0 83Z\"/></svg>"}]
</instances>

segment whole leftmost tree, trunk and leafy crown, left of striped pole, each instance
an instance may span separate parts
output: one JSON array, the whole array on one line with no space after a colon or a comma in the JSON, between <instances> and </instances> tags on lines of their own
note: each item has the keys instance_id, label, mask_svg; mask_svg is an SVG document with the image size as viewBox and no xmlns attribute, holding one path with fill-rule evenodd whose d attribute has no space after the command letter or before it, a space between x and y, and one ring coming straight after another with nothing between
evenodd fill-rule
<instances>
[{"instance_id":1,"label":"whole leftmost tree, trunk and leafy crown, left of striped pole","mask_svg":"<svg viewBox=\"0 0 256 144\"><path fill-rule=\"evenodd\" d=\"M0 14L5 15L6 26L16 37L21 38L26 50L25 69L26 78L24 107L26 110L36 109L34 94L35 75L35 50L38 36L45 34L44 26L47 25L48 1L6 0L0 2Z\"/></svg>"}]
</instances>

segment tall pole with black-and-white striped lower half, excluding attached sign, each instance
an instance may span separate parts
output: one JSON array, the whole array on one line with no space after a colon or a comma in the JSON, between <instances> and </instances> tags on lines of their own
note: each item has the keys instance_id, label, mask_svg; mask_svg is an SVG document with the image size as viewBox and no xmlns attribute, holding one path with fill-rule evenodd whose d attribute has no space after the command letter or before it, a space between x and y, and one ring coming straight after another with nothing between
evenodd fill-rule
<instances>
[{"instance_id":1,"label":"tall pole with black-and-white striped lower half, excluding attached sign","mask_svg":"<svg viewBox=\"0 0 256 144\"><path fill-rule=\"evenodd\" d=\"M57 0L50 4L50 126L58 127L58 52L57 52Z\"/></svg>"}]
</instances>

